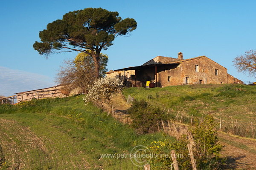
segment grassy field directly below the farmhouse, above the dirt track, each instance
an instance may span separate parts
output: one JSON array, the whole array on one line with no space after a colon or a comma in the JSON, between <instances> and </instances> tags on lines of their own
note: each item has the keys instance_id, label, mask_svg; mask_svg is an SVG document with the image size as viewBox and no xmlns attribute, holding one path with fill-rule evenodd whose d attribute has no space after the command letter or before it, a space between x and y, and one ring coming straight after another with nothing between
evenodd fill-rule
<instances>
[{"instance_id":1,"label":"grassy field directly below the farmhouse, above the dirt track","mask_svg":"<svg viewBox=\"0 0 256 170\"><path fill-rule=\"evenodd\" d=\"M126 98L131 95L136 100L145 100L154 106L165 108L169 118L177 116L177 121L180 121L182 117L183 123L190 124L192 115L193 118L201 119L212 114L218 122L221 118L223 131L255 137L251 124L255 133L256 86L200 84L152 89L128 88L124 89L123 94Z\"/></svg>"}]
</instances>

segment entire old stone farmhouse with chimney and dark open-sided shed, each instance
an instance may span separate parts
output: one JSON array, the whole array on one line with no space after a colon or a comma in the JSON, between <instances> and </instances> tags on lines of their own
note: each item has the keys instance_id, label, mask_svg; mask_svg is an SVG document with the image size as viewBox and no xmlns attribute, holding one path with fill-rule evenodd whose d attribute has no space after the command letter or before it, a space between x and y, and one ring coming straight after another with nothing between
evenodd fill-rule
<instances>
[{"instance_id":1,"label":"entire old stone farmhouse with chimney and dark open-sided shed","mask_svg":"<svg viewBox=\"0 0 256 170\"><path fill-rule=\"evenodd\" d=\"M119 77L127 87L146 87L146 82L154 86L165 87L185 84L243 84L242 81L227 73L224 66L206 56L183 59L157 56L141 66L111 70L110 77Z\"/></svg>"}]
</instances>

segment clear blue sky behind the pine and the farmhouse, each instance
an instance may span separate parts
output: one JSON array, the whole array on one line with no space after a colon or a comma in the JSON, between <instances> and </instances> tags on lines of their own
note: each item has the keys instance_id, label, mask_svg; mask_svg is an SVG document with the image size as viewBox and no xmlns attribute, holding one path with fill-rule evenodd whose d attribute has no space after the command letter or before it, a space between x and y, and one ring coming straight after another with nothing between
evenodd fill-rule
<instances>
[{"instance_id":1,"label":"clear blue sky behind the pine and the farmhouse","mask_svg":"<svg viewBox=\"0 0 256 170\"><path fill-rule=\"evenodd\" d=\"M32 47L39 31L63 14L88 7L134 18L137 29L118 37L102 51L108 69L139 66L160 55L183 58L205 55L242 81L256 81L238 73L233 59L256 49L255 0L1 0L0 95L13 95L54 86L64 59L77 53L53 54L48 59Z\"/></svg>"}]
</instances>

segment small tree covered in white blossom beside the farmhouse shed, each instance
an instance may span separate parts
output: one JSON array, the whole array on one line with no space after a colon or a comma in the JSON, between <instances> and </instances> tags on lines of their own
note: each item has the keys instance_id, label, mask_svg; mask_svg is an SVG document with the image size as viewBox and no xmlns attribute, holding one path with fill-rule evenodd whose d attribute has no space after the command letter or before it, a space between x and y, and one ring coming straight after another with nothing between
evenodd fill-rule
<instances>
[{"instance_id":1,"label":"small tree covered in white blossom beside the farmhouse shed","mask_svg":"<svg viewBox=\"0 0 256 170\"><path fill-rule=\"evenodd\" d=\"M84 97L85 103L89 101L99 101L107 99L112 107L111 96L123 86L123 81L119 78L105 77L100 78L88 86L88 93Z\"/></svg>"}]
</instances>

